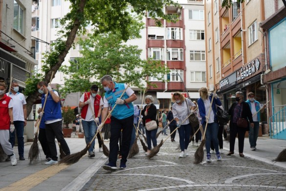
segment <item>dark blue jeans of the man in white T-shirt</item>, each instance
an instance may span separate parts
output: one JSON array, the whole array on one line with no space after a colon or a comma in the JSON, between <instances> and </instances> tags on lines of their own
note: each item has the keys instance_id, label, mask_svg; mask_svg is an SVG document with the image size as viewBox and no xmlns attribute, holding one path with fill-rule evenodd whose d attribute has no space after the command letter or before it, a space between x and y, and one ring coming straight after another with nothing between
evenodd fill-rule
<instances>
[{"instance_id":1,"label":"dark blue jeans of the man in white T-shirt","mask_svg":"<svg viewBox=\"0 0 286 191\"><path fill-rule=\"evenodd\" d=\"M15 132L17 133L18 140L18 153L20 157L24 156L24 121L14 120L15 131L11 133L10 131L10 140L9 142L12 145L12 148L15 145Z\"/></svg>"}]
</instances>

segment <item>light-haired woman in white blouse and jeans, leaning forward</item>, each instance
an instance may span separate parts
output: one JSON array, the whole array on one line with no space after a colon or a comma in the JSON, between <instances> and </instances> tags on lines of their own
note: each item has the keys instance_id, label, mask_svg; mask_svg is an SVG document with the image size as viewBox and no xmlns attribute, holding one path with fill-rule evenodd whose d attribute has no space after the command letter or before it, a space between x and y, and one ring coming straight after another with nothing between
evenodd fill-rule
<instances>
[{"instance_id":1,"label":"light-haired woman in white blouse and jeans, leaning forward","mask_svg":"<svg viewBox=\"0 0 286 191\"><path fill-rule=\"evenodd\" d=\"M174 102L172 106L173 116L176 120L177 126L179 127L178 132L181 147L181 153L179 157L184 158L188 156L187 148L189 145L190 133L192 128L190 121L187 117L189 114L194 113L194 109L196 108L196 106L190 99L185 99L185 97L179 92L173 94L172 101ZM185 121L183 122L183 120Z\"/></svg>"}]
</instances>

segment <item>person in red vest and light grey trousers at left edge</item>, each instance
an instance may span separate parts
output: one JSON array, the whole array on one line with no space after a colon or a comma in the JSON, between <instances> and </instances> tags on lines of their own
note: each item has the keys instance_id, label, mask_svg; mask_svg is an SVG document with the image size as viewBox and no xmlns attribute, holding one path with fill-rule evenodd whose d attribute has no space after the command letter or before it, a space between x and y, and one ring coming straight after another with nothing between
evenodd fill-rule
<instances>
[{"instance_id":1,"label":"person in red vest and light grey trousers at left edge","mask_svg":"<svg viewBox=\"0 0 286 191\"><path fill-rule=\"evenodd\" d=\"M17 165L17 159L14 154L11 143L9 142L10 132L15 130L13 122L13 100L11 97L5 95L6 84L4 80L0 80L0 144L5 154L10 158L11 165Z\"/></svg>"}]
</instances>

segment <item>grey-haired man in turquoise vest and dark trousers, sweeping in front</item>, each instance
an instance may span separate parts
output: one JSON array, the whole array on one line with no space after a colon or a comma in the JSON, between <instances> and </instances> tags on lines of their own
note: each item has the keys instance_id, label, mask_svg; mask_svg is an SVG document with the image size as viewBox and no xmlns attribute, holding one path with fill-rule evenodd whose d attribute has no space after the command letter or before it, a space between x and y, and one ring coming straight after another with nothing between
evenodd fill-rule
<instances>
[{"instance_id":1,"label":"grey-haired man in turquoise vest and dark trousers, sweeping in front","mask_svg":"<svg viewBox=\"0 0 286 191\"><path fill-rule=\"evenodd\" d=\"M104 121L108 114L108 108L111 106L113 109L111 113L110 123L110 155L109 163L104 165L106 170L116 170L116 160L118 154L118 140L122 130L122 145L121 145L121 161L120 169L126 168L127 156L130 149L131 134L133 129L133 114L134 109L132 101L137 97L131 88L127 88L126 84L116 83L112 81L110 75L105 75L100 80L106 91L104 96L104 105L101 113L102 121ZM120 98L120 96L123 96ZM115 107L116 106L116 107ZM98 126L101 130L104 123Z\"/></svg>"}]
</instances>

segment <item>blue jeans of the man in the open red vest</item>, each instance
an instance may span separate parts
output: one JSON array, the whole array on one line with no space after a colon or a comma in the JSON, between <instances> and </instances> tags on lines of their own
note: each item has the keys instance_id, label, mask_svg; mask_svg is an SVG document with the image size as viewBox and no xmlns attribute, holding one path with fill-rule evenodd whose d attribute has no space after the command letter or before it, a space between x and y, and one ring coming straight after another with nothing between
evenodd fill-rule
<instances>
[{"instance_id":1,"label":"blue jeans of the man in the open red vest","mask_svg":"<svg viewBox=\"0 0 286 191\"><path fill-rule=\"evenodd\" d=\"M91 121L82 120L82 123L83 123L86 143L88 144L94 137L97 126L93 120ZM90 144L88 152L93 151L93 148L94 148L94 141Z\"/></svg>"}]
</instances>

